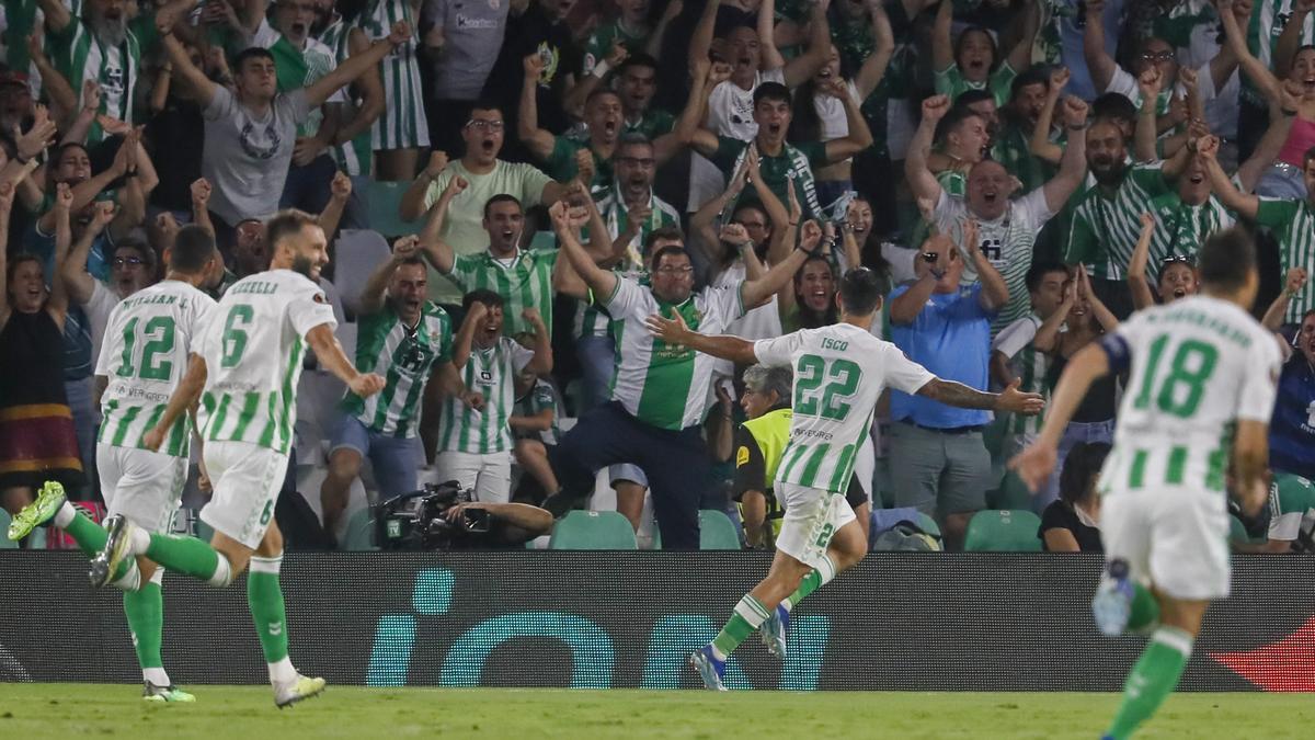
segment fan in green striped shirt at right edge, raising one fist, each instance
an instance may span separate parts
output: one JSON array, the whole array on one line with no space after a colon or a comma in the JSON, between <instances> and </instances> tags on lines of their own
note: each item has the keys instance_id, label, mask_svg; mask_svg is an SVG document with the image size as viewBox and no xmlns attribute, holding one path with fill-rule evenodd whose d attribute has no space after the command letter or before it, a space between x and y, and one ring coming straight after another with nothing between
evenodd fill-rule
<instances>
[{"instance_id":1,"label":"fan in green striped shirt at right edge, raising one fist","mask_svg":"<svg viewBox=\"0 0 1315 740\"><path fill-rule=\"evenodd\" d=\"M1245 195L1233 187L1219 166L1219 138L1206 137L1197 144L1202 159L1210 171L1210 182L1219 200L1235 213L1262 226L1269 226L1278 238L1278 257L1283 273L1302 267L1307 274L1315 274L1315 147L1302 158L1302 175L1306 183L1306 200L1260 198ZM1289 300L1283 323L1297 324L1302 316L1315 308L1315 282L1304 286Z\"/></svg>"}]
</instances>

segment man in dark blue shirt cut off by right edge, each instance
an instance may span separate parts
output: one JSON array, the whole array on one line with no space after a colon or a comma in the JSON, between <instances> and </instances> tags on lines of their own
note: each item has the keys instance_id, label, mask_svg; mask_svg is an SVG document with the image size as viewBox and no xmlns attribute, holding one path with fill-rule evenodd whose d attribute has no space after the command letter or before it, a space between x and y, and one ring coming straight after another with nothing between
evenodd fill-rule
<instances>
[{"instance_id":1,"label":"man in dark blue shirt cut off by right edge","mask_svg":"<svg viewBox=\"0 0 1315 740\"><path fill-rule=\"evenodd\" d=\"M1269 463L1281 473L1315 479L1315 311L1302 316L1283 363L1278 400L1269 424Z\"/></svg>"}]
</instances>

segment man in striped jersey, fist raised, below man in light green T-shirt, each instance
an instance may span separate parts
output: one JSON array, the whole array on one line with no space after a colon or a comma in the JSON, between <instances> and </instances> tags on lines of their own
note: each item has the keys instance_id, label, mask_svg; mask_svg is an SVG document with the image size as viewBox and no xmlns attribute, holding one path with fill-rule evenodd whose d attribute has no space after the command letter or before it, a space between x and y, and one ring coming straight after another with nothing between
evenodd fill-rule
<instances>
[{"instance_id":1,"label":"man in striped jersey, fist raised, below man in light green T-shirt","mask_svg":"<svg viewBox=\"0 0 1315 740\"><path fill-rule=\"evenodd\" d=\"M543 323L552 333L552 294L564 265L559 267L556 249L521 249L525 212L514 195L494 195L484 204L484 230L489 240L484 251L454 255L452 245L438 236L452 199L466 187L466 178L454 176L430 211L421 232L425 257L463 292L490 290L502 296L509 315L508 336L534 333L534 327L525 319L526 308L540 309Z\"/></svg>"}]
</instances>

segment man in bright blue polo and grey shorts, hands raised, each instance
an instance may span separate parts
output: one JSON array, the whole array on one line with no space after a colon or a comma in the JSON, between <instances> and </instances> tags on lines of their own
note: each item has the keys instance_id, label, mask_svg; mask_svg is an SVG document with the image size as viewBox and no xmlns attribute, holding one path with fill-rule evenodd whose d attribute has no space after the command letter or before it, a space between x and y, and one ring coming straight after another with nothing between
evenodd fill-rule
<instances>
[{"instance_id":1,"label":"man in bright blue polo and grey shorts, hands raised","mask_svg":"<svg viewBox=\"0 0 1315 740\"><path fill-rule=\"evenodd\" d=\"M980 278L972 287L959 284L965 259L973 261ZM890 294L892 340L936 377L985 391L990 321L1009 302L1009 288L977 248L977 224L965 225L963 249L944 234L923 242L915 273L915 282ZM968 520L986 506L990 454L982 428L990 412L892 391L890 419L896 506L939 516L945 544L960 549Z\"/></svg>"}]
</instances>

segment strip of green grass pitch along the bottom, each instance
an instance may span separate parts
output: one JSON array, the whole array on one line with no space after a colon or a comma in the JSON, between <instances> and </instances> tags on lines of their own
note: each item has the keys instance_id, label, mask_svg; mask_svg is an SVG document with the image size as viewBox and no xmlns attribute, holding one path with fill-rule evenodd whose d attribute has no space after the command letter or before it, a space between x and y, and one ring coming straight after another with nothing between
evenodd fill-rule
<instances>
[{"instance_id":1,"label":"strip of green grass pitch along the bottom","mask_svg":"<svg viewBox=\"0 0 1315 740\"><path fill-rule=\"evenodd\" d=\"M1098 737L1116 694L583 691L330 686L284 711L263 686L0 683L0 737ZM1176 694L1137 737L1310 737L1310 694Z\"/></svg>"}]
</instances>

